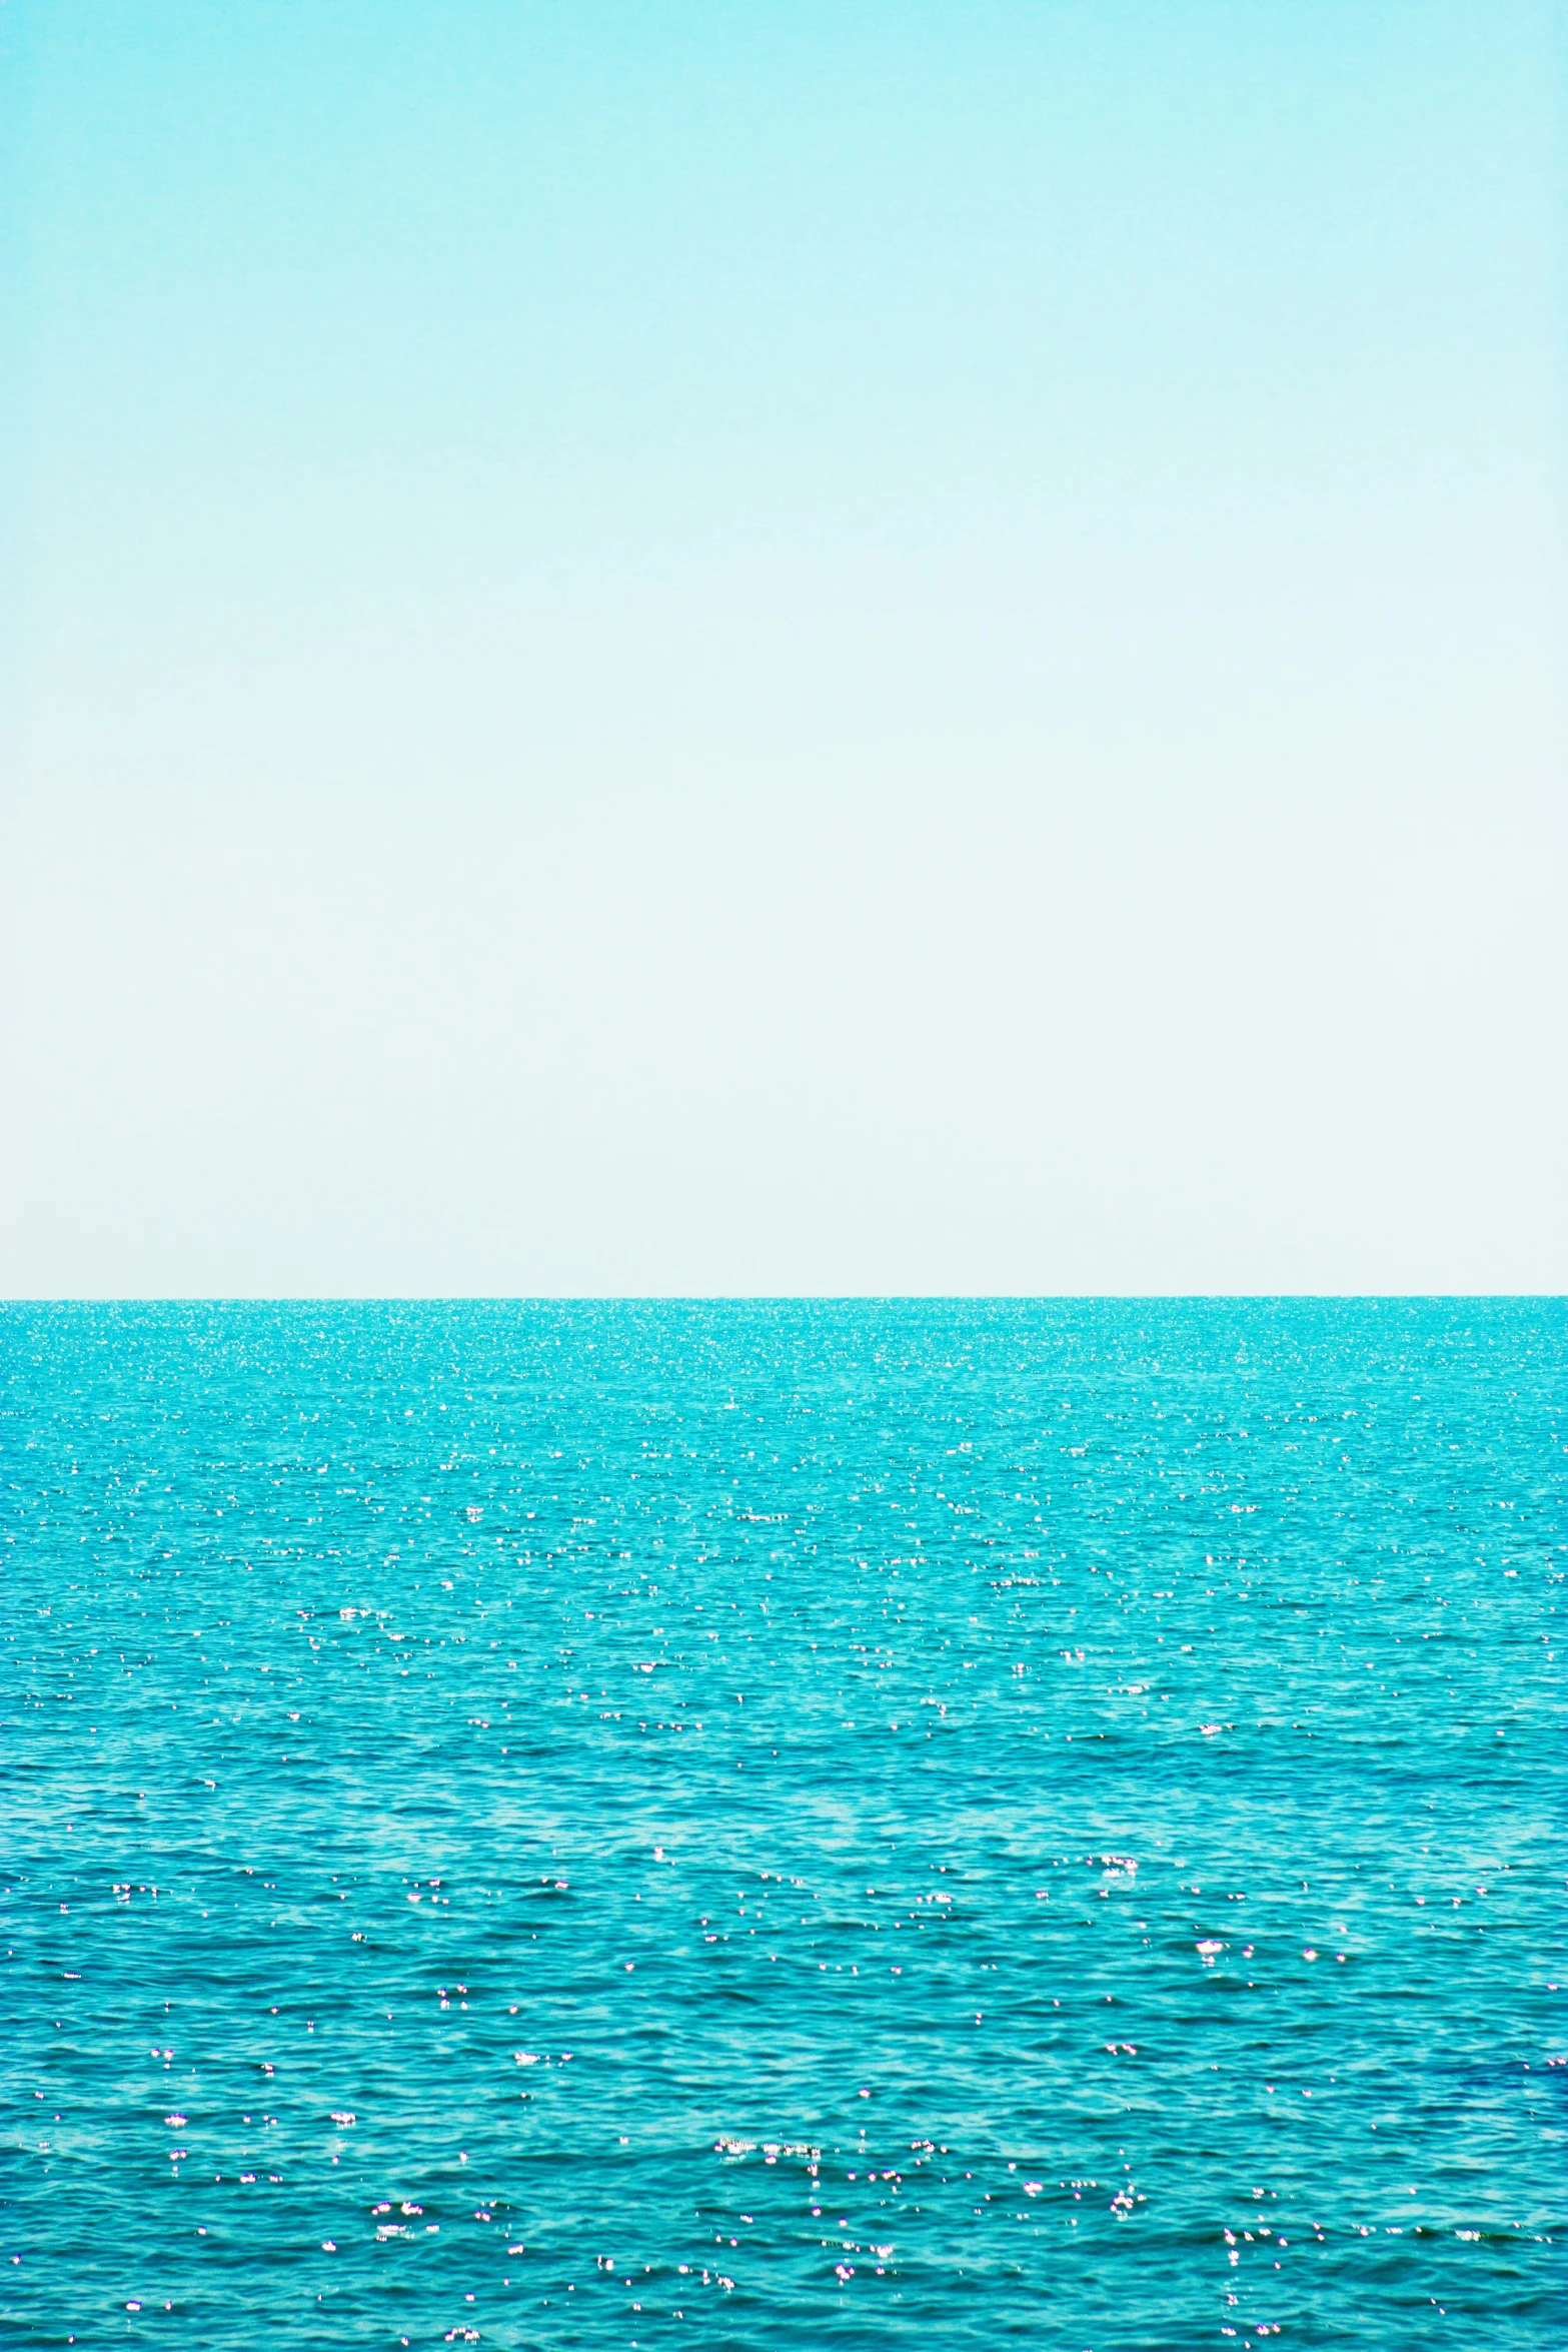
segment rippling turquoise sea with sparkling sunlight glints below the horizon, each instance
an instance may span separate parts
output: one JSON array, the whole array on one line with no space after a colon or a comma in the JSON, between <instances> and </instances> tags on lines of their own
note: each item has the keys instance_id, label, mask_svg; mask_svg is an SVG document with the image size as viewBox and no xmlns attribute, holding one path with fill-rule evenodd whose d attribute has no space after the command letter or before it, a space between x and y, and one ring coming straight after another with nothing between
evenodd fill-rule
<instances>
[{"instance_id":1,"label":"rippling turquoise sea with sparkling sunlight glints below the horizon","mask_svg":"<svg viewBox=\"0 0 1568 2352\"><path fill-rule=\"evenodd\" d=\"M0 2340L1568 2340L1563 1338L2 1310Z\"/></svg>"}]
</instances>

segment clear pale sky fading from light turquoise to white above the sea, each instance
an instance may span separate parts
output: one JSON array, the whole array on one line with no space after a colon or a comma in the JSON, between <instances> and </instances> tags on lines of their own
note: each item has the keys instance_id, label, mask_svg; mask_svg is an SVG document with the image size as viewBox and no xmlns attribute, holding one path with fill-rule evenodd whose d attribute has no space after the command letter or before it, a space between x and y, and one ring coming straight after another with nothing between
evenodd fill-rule
<instances>
[{"instance_id":1,"label":"clear pale sky fading from light turquoise to white above the sea","mask_svg":"<svg viewBox=\"0 0 1568 2352\"><path fill-rule=\"evenodd\" d=\"M0 1294L1568 1287L1540 0L5 0Z\"/></svg>"}]
</instances>

